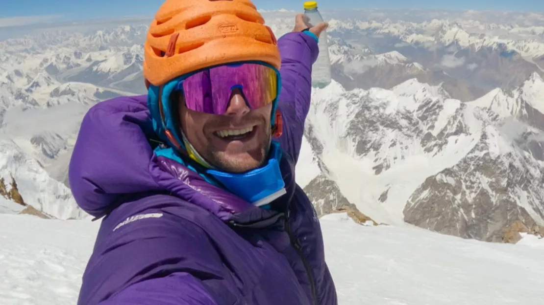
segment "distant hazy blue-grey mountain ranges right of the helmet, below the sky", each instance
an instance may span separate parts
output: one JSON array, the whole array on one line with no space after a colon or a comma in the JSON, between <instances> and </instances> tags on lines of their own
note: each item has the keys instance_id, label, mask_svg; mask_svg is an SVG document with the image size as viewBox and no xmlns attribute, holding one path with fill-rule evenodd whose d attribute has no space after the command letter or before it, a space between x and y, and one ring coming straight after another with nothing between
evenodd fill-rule
<instances>
[{"instance_id":1,"label":"distant hazy blue-grey mountain ranges right of the helmet, below the sky","mask_svg":"<svg viewBox=\"0 0 544 305\"><path fill-rule=\"evenodd\" d=\"M511 90L534 72L544 76L544 36L538 31L544 18L539 14L458 16L418 10L400 15L392 10L323 14L330 24L333 78L348 90L390 89L417 78L431 85L444 82L452 97L469 101L497 87ZM290 30L289 15L294 12L265 13L265 18L283 34ZM375 65L368 57L391 52L406 58L405 66Z\"/></svg>"}]
</instances>

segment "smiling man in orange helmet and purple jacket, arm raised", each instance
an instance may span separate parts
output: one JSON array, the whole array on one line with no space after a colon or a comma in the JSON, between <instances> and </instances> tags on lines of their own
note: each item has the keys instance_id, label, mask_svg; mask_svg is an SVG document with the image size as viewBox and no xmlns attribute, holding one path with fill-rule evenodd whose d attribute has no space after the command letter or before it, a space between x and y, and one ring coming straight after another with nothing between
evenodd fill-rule
<instances>
[{"instance_id":1,"label":"smiling man in orange helmet and purple jacket, arm raised","mask_svg":"<svg viewBox=\"0 0 544 305\"><path fill-rule=\"evenodd\" d=\"M249 0L166 1L147 96L86 114L70 185L104 218L78 304L337 304L294 177L327 25L263 23Z\"/></svg>"}]
</instances>

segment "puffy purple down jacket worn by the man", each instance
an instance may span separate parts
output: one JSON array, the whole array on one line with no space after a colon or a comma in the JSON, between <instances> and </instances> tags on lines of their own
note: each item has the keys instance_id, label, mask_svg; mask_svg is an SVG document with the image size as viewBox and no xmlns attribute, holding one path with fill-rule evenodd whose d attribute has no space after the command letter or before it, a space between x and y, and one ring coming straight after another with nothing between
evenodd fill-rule
<instances>
[{"instance_id":1,"label":"puffy purple down jacket worn by the man","mask_svg":"<svg viewBox=\"0 0 544 305\"><path fill-rule=\"evenodd\" d=\"M146 96L86 113L69 169L81 208L104 217L79 305L336 305L316 212L295 183L310 107L316 40L279 40L284 132L276 139L287 194L248 204L153 153Z\"/></svg>"}]
</instances>

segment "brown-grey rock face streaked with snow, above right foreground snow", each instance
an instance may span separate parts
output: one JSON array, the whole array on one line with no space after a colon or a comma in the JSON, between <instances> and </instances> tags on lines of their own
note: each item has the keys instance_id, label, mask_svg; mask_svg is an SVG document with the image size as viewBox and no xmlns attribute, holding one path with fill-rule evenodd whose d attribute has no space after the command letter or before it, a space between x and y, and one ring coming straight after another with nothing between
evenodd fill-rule
<instances>
[{"instance_id":1,"label":"brown-grey rock face streaked with snow, above right foreground snow","mask_svg":"<svg viewBox=\"0 0 544 305\"><path fill-rule=\"evenodd\" d=\"M489 166L492 167L493 163ZM416 190L404 209L407 223L489 242L499 242L504 227L512 219L535 224L526 209L517 204L515 183L505 185L506 179L499 173L492 171L488 173L490 177L485 176L485 170L481 168L468 171L464 177L462 172L455 170L459 169L446 169L429 177Z\"/></svg>"}]
</instances>

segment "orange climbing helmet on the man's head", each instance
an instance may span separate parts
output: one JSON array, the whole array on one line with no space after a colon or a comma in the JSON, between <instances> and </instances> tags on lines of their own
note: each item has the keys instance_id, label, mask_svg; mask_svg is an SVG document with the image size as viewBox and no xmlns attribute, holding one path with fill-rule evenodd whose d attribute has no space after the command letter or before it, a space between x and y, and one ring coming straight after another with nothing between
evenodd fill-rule
<instances>
[{"instance_id":1,"label":"orange climbing helmet on the man's head","mask_svg":"<svg viewBox=\"0 0 544 305\"><path fill-rule=\"evenodd\" d=\"M228 62L263 61L280 69L276 37L250 0L166 0L144 46L146 85Z\"/></svg>"}]
</instances>

